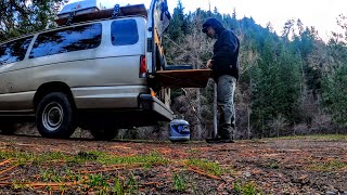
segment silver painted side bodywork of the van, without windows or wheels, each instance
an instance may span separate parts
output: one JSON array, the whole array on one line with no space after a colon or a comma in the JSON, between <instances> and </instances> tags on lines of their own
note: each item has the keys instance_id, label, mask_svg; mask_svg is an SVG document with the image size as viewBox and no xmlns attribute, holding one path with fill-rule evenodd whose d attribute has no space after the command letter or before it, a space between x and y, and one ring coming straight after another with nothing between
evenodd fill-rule
<instances>
[{"instance_id":1,"label":"silver painted side bodywork of the van, without windows or wheels","mask_svg":"<svg viewBox=\"0 0 347 195\"><path fill-rule=\"evenodd\" d=\"M121 21L136 22L137 42L121 46L114 42L113 23ZM33 49L42 44L40 41L46 35L91 24L101 24L98 47L47 55L33 53ZM53 39L54 41L59 40ZM142 103L139 96L151 93L147 79L140 78L140 58L143 56L152 58L152 54L147 53L147 21L140 16L77 24L35 34L23 61L0 65L0 116L11 112L33 113L37 90L50 82L68 86L77 109L141 112ZM146 69L151 69L149 63ZM170 109L164 108L159 101L149 104L156 115L159 114L166 119L172 118Z\"/></svg>"}]
</instances>

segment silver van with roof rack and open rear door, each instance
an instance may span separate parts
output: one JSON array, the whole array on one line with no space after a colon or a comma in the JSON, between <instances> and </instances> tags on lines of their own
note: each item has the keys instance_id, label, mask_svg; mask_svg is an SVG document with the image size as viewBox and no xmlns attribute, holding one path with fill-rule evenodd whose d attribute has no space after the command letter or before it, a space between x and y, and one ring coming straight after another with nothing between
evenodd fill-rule
<instances>
[{"instance_id":1,"label":"silver van with roof rack and open rear door","mask_svg":"<svg viewBox=\"0 0 347 195\"><path fill-rule=\"evenodd\" d=\"M166 0L153 0L149 11L116 9L98 12L107 18L75 10L59 20L75 20L70 25L0 44L2 133L35 120L42 136L68 138L81 127L112 140L119 128L172 119L169 91L155 77L166 65L159 43L170 17Z\"/></svg>"}]
</instances>

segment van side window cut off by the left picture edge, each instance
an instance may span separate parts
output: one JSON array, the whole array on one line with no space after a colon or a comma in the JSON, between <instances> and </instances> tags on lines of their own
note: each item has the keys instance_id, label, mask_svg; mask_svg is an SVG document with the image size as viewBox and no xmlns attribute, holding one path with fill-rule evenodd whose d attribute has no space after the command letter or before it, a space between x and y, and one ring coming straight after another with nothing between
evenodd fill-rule
<instances>
[{"instance_id":1,"label":"van side window cut off by the left picture edge","mask_svg":"<svg viewBox=\"0 0 347 195\"><path fill-rule=\"evenodd\" d=\"M23 61L33 36L0 46L0 65Z\"/></svg>"}]
</instances>

